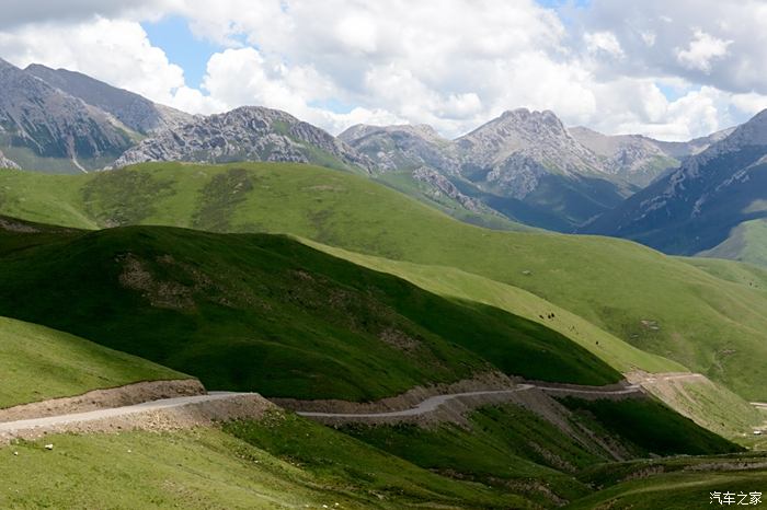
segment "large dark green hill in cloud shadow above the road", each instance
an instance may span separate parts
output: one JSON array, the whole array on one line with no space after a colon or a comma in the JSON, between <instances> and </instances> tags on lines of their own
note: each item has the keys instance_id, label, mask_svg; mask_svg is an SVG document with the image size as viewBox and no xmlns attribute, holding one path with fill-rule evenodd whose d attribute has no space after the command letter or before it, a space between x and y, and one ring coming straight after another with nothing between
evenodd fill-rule
<instances>
[{"instance_id":1,"label":"large dark green hill in cloud shadow above the road","mask_svg":"<svg viewBox=\"0 0 767 510\"><path fill-rule=\"evenodd\" d=\"M542 325L287 237L157 227L53 235L0 234L0 246L14 246L0 251L0 313L183 370L209 389L358 401L489 367L584 384L620 378Z\"/></svg>"}]
</instances>

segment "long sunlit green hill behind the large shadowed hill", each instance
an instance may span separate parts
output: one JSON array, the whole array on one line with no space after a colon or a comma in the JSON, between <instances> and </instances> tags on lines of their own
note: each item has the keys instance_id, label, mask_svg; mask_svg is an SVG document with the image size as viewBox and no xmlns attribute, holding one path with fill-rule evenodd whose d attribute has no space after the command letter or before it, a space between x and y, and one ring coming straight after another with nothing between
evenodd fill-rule
<instances>
[{"instance_id":1,"label":"long sunlit green hill behind the large shadowed hill","mask_svg":"<svg viewBox=\"0 0 767 510\"><path fill-rule=\"evenodd\" d=\"M3 175L0 186L15 194L19 186L7 179L45 178L28 175ZM71 177L61 187L68 189L51 207L62 211L62 220L73 220L65 212L75 207L100 224L284 232L457 267L528 290L744 396L767 397L760 383L767 372L767 295L633 243L473 228L362 177L305 165L154 164ZM72 195L73 204L66 199ZM19 199L11 202L2 212L30 210Z\"/></svg>"}]
</instances>

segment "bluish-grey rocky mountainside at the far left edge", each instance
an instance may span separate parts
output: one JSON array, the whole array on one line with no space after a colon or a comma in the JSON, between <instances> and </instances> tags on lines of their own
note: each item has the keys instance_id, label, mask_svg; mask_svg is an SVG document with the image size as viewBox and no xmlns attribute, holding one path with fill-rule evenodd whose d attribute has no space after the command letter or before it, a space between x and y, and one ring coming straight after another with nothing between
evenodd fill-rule
<instances>
[{"instance_id":1,"label":"bluish-grey rocky mountainside at the far left edge","mask_svg":"<svg viewBox=\"0 0 767 510\"><path fill-rule=\"evenodd\" d=\"M100 158L133 144L129 130L99 108L0 60L3 146L45 158Z\"/></svg>"}]
</instances>

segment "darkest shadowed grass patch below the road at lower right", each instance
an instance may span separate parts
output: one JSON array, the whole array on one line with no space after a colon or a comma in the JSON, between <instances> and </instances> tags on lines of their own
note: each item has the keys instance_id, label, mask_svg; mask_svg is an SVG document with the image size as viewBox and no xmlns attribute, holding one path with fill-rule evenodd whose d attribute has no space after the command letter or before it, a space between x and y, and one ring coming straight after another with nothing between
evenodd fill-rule
<instances>
[{"instance_id":1,"label":"darkest shadowed grass patch below the road at lower right","mask_svg":"<svg viewBox=\"0 0 767 510\"><path fill-rule=\"evenodd\" d=\"M702 455L742 450L654 399L584 401L568 397L561 402L576 416L596 420L611 433L631 441L644 455Z\"/></svg>"}]
</instances>

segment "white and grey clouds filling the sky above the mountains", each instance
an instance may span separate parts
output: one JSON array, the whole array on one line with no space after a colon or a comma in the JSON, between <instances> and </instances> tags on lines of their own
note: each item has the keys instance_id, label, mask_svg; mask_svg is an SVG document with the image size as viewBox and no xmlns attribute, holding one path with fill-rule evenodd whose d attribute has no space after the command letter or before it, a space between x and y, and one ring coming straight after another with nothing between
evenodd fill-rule
<instances>
[{"instance_id":1,"label":"white and grey clouds filling the sky above the mountains","mask_svg":"<svg viewBox=\"0 0 767 510\"><path fill-rule=\"evenodd\" d=\"M427 123L453 137L526 106L684 139L767 105L767 5L752 0L560 11L533 0L73 0L66 15L53 0L9 2L0 56L14 63L79 70L193 113L276 107L332 132ZM221 46L199 89L139 24L163 15Z\"/></svg>"}]
</instances>

